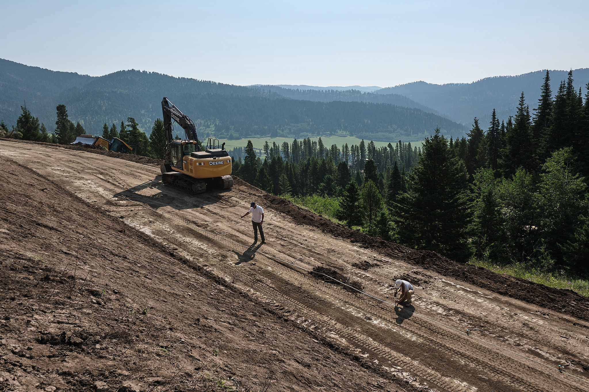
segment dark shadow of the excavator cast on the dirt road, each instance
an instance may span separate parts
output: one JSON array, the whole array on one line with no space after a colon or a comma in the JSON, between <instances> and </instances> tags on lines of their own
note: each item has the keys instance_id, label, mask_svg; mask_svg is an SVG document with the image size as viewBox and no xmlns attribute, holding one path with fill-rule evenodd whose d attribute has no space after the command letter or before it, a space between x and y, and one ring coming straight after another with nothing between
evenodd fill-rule
<instances>
[{"instance_id":1,"label":"dark shadow of the excavator cast on the dirt road","mask_svg":"<svg viewBox=\"0 0 589 392\"><path fill-rule=\"evenodd\" d=\"M143 192L145 189L150 189L151 192ZM157 193L153 193L153 190L156 190ZM207 189L207 192L192 195L184 190L164 185L161 182L161 175L157 175L154 180L121 190L121 192L115 193L114 196L143 203L153 209L170 206L177 210L186 210L217 203L222 203L227 205L227 207L239 206L240 203L231 200L230 192L231 189L214 189L210 187L210 189ZM144 193L151 193L151 195L144 195Z\"/></svg>"}]
</instances>

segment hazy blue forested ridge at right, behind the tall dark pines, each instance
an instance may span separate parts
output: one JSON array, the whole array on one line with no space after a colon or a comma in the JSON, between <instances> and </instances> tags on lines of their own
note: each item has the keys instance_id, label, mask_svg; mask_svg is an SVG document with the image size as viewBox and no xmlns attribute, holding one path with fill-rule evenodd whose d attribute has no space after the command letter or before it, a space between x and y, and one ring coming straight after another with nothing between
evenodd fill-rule
<instances>
[{"instance_id":1,"label":"hazy blue forested ridge at right, behind the tall dark pines","mask_svg":"<svg viewBox=\"0 0 589 392\"><path fill-rule=\"evenodd\" d=\"M555 83L565 81L568 71L550 71ZM426 82L413 82L383 88L376 94L400 94L438 110L442 116L470 126L472 119L479 116L482 124L491 120L490 113L496 110L499 118L514 116L519 95L524 92L528 102L538 102L544 71L524 73L517 76L494 76L472 83L447 83L436 85ZM574 86L579 89L589 81L589 68L574 69ZM481 117L481 113L488 113Z\"/></svg>"}]
</instances>

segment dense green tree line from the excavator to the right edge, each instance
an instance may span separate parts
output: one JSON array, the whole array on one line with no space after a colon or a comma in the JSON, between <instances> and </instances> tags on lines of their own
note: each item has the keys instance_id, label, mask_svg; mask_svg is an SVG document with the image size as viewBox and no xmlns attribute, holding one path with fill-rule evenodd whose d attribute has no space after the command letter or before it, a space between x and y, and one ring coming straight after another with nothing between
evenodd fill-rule
<instances>
[{"instance_id":1,"label":"dense green tree line from the excavator to the right edge","mask_svg":"<svg viewBox=\"0 0 589 392\"><path fill-rule=\"evenodd\" d=\"M522 93L515 116L493 110L487 130L475 118L464 138L436 128L422 149L408 147L294 140L268 143L262 161L248 143L234 169L268 192L331 198L348 227L459 262L587 273L589 92L572 72L554 96L547 72L532 111Z\"/></svg>"}]
</instances>

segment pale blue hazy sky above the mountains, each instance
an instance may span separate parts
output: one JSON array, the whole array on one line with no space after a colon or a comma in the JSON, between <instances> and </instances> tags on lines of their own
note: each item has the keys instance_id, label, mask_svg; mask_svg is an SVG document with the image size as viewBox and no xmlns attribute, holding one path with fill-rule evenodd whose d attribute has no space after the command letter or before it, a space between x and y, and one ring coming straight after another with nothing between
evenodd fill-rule
<instances>
[{"instance_id":1,"label":"pale blue hazy sky above the mountains","mask_svg":"<svg viewBox=\"0 0 589 392\"><path fill-rule=\"evenodd\" d=\"M0 58L250 85L472 82L589 67L589 1L8 1Z\"/></svg>"}]
</instances>

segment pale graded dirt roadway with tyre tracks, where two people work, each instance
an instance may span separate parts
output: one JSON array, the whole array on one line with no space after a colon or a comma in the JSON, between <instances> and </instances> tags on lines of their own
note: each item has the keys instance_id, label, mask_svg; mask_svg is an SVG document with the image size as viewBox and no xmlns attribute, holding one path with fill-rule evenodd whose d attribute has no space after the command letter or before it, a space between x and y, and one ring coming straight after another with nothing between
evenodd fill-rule
<instances>
[{"instance_id":1,"label":"pale graded dirt roadway with tyre tracks, where two people work","mask_svg":"<svg viewBox=\"0 0 589 392\"><path fill-rule=\"evenodd\" d=\"M462 266L448 264L449 260L437 255L422 257L398 245L346 239L349 233L340 229L333 236L332 226L327 223L297 215L291 211L293 206L273 200L244 183L227 191L190 196L164 187L157 167L108 156L0 141L0 157L31 167L89 205L118 217L127 227L147 234L168 252L223 279L228 287L266 303L284 319L313 334L313 339L325 340L337 350L355 354L350 368L361 371L359 363L371 364L383 372L378 374L409 381L411 387L425 390L587 390L587 321L571 316L573 311L564 307L565 312L556 312L537 306L530 298L526 302L489 291L488 280L481 280L483 284L478 287L474 284L475 271L463 273L459 269ZM239 216L252 199L266 210L264 230L268 243L247 248L252 227L249 220L240 220ZM107 243L106 237L103 241ZM154 264L148 263L148 257L135 257L134 268L140 272L131 270L133 275L124 276L141 287L145 282L141 279L143 270L136 265L145 264L150 270ZM448 274L445 264L449 266ZM335 269L358 280L366 292L383 299L391 294L390 285L395 279L408 279L417 287L415 308L395 310L388 304L322 282L295 266ZM166 271L170 276L194 273L186 264ZM504 279L495 275L493 283L497 286ZM511 294L511 288L518 284L504 286L504 290ZM168 291L178 291L177 286L169 287ZM170 314L174 314L173 307L180 307L181 299L170 299ZM578 301L582 303L583 299ZM219 306L213 303L211 307ZM176 320L176 316L168 319ZM265 326L266 319L257 322ZM187 324L187 335L193 327ZM237 329L239 324L234 327ZM462 333L466 329L475 329L472 336ZM292 335L286 339L293 340ZM300 340L299 336L296 340ZM239 336L235 341L243 344L247 340ZM271 344L272 350L277 351L280 344L277 339ZM300 353L299 360L309 364L323 361L320 356ZM547 367L557 367L567 360L572 364L566 372L583 380ZM311 381L297 379L293 385L305 390ZM289 388L288 382L277 383L276 390ZM368 384L360 390L370 388L375 387Z\"/></svg>"}]
</instances>

